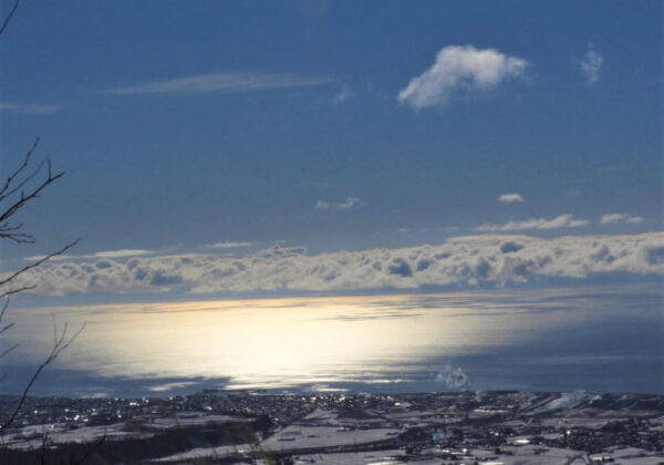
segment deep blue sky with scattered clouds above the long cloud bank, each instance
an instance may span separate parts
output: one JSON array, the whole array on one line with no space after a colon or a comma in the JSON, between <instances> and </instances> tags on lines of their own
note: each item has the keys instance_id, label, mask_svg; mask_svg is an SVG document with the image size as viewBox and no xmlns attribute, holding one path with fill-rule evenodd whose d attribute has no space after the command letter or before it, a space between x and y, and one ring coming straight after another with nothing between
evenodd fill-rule
<instances>
[{"instance_id":1,"label":"deep blue sky with scattered clouds above the long cloud bank","mask_svg":"<svg viewBox=\"0 0 664 465\"><path fill-rule=\"evenodd\" d=\"M21 218L38 244L2 254L660 250L662 19L655 1L24 2L0 43L0 169L40 136L68 175ZM205 247L224 242L251 246Z\"/></svg>"}]
</instances>

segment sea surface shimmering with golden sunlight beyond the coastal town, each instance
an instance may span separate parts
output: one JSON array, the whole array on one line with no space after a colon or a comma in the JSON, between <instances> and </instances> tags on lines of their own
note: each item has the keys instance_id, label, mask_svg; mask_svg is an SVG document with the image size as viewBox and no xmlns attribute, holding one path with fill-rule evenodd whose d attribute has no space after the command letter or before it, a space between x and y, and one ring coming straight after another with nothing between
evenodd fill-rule
<instances>
[{"instance_id":1,"label":"sea surface shimmering with golden sunlight beyond the coastal town","mask_svg":"<svg viewBox=\"0 0 664 465\"><path fill-rule=\"evenodd\" d=\"M169 395L205 388L404 392L664 392L658 285L437 294L11 308L17 392L53 318L86 322L37 394Z\"/></svg>"}]
</instances>

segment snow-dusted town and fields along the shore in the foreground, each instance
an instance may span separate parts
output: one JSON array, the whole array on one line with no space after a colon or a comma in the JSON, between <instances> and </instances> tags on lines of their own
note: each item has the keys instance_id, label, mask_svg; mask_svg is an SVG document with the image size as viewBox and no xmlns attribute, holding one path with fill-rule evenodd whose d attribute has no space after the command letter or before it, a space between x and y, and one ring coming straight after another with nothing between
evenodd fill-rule
<instances>
[{"instance_id":1,"label":"snow-dusted town and fields along the shore in the foreground","mask_svg":"<svg viewBox=\"0 0 664 465\"><path fill-rule=\"evenodd\" d=\"M204 391L28 397L0 462L653 465L663 448L664 395Z\"/></svg>"}]
</instances>

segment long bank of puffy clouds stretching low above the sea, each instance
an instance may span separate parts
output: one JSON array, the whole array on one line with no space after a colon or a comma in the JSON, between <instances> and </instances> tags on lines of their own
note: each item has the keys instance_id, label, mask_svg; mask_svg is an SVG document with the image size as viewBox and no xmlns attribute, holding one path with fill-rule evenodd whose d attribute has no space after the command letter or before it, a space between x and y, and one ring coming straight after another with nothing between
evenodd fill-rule
<instances>
[{"instance_id":1,"label":"long bank of puffy clouds stretching low above the sea","mask_svg":"<svg viewBox=\"0 0 664 465\"><path fill-rule=\"evenodd\" d=\"M664 232L623 236L481 235L439 246L307 255L271 249L242 258L189 254L53 261L15 286L33 292L359 291L584 279L603 273L664 275Z\"/></svg>"}]
</instances>

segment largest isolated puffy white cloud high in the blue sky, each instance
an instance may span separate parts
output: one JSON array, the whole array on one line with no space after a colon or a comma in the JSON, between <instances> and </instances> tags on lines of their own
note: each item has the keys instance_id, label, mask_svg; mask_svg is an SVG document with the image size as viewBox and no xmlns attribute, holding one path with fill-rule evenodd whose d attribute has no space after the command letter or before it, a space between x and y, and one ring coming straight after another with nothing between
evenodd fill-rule
<instances>
[{"instance_id":1,"label":"largest isolated puffy white cloud high in the blue sky","mask_svg":"<svg viewBox=\"0 0 664 465\"><path fill-rule=\"evenodd\" d=\"M455 92L483 91L501 82L521 78L528 62L495 49L449 45L436 55L433 66L413 78L398 93L398 101L415 110L445 105Z\"/></svg>"}]
</instances>

